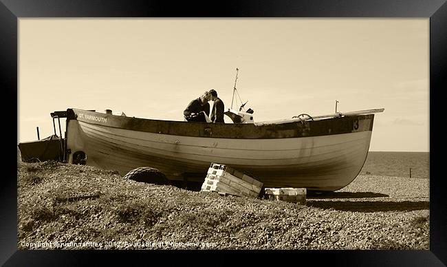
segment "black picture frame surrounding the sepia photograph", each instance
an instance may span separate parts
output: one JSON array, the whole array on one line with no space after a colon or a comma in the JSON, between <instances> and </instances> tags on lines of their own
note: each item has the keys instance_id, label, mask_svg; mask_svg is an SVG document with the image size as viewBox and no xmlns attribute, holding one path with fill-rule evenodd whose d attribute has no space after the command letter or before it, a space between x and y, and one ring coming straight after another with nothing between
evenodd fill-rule
<instances>
[{"instance_id":1,"label":"black picture frame surrounding the sepia photograph","mask_svg":"<svg viewBox=\"0 0 447 267\"><path fill-rule=\"evenodd\" d=\"M6 172L0 186L0 264L5 266L80 266L87 264L331 264L340 266L446 266L446 197L437 162L444 142L431 133L443 127L437 101L447 88L446 0L268 0L268 1L182 1L140 0L0 0L0 88L8 109L3 118L6 133L3 147L17 151L17 23L36 17L358 17L430 19L430 250L243 250L207 251L61 251L17 250L17 169L6 153ZM436 131L438 129L438 131ZM433 131L434 130L434 131ZM415 140L417 142L417 140ZM15 147L15 148L14 148ZM14 150L13 150L14 149ZM14 155L14 154L12 154ZM143 254L137 257L136 254ZM228 254L228 255L227 255ZM228 257L228 256L241 257ZM226 261L225 259L228 259ZM242 261L243 262L243 261Z\"/></svg>"}]
</instances>

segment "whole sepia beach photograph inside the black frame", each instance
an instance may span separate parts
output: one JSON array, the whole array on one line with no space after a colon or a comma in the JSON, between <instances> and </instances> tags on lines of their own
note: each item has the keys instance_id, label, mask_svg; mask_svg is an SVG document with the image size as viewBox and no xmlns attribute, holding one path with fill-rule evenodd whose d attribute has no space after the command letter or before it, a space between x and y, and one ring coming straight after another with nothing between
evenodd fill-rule
<instances>
[{"instance_id":1,"label":"whole sepia beach photograph inside the black frame","mask_svg":"<svg viewBox=\"0 0 447 267\"><path fill-rule=\"evenodd\" d=\"M20 18L19 250L429 250L428 18Z\"/></svg>"}]
</instances>

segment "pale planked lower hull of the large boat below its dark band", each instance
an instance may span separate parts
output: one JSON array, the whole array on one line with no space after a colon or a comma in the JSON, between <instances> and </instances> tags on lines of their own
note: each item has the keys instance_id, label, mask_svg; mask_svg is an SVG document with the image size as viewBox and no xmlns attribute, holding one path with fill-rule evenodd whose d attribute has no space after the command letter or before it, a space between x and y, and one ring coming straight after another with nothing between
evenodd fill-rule
<instances>
[{"instance_id":1,"label":"pale planked lower hull of the large boat below its dark band","mask_svg":"<svg viewBox=\"0 0 447 267\"><path fill-rule=\"evenodd\" d=\"M371 122L372 123L372 122ZM212 138L133 131L69 120L67 147L87 154L87 164L124 174L159 169L171 180L206 173L211 162L252 173L266 187L335 191L360 172L372 131L297 138ZM72 161L69 155L69 162ZM203 181L203 177L189 180Z\"/></svg>"}]
</instances>

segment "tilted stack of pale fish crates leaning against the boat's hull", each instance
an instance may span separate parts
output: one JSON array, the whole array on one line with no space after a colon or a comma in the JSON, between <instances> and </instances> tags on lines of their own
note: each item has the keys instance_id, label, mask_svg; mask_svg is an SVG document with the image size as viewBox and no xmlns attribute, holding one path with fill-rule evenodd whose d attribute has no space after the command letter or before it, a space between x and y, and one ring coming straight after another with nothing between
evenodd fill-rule
<instances>
[{"instance_id":1,"label":"tilted stack of pale fish crates leaning against the boat's hull","mask_svg":"<svg viewBox=\"0 0 447 267\"><path fill-rule=\"evenodd\" d=\"M258 197L262 182L223 164L211 163L201 191L220 194L239 195L241 197Z\"/></svg>"}]
</instances>

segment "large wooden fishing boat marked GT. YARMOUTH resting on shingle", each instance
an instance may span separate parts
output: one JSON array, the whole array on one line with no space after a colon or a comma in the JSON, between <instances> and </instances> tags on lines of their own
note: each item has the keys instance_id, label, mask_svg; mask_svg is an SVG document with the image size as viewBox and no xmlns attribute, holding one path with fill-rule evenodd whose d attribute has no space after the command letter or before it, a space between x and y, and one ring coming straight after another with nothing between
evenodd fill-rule
<instances>
[{"instance_id":1,"label":"large wooden fishing boat marked GT. YARMOUTH resting on shingle","mask_svg":"<svg viewBox=\"0 0 447 267\"><path fill-rule=\"evenodd\" d=\"M152 120L74 108L52 116L67 118L63 147L69 163L122 174L153 167L169 180L203 182L216 162L265 187L336 191L360 173L374 113L383 110L254 123Z\"/></svg>"}]
</instances>

